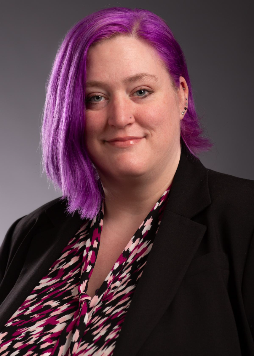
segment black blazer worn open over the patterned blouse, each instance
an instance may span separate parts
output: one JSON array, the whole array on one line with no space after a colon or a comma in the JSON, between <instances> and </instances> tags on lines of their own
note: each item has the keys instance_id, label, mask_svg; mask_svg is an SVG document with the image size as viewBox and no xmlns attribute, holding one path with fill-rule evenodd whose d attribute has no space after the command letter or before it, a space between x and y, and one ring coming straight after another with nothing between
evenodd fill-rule
<instances>
[{"instance_id":1,"label":"black blazer worn open over the patterned blouse","mask_svg":"<svg viewBox=\"0 0 254 356\"><path fill-rule=\"evenodd\" d=\"M0 331L79 229L59 198L16 220L0 249ZM254 180L184 146L113 356L254 355Z\"/></svg>"}]
</instances>

